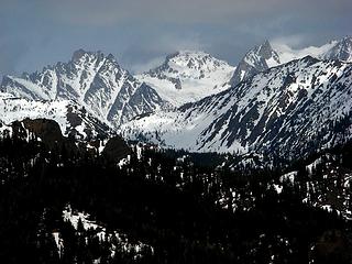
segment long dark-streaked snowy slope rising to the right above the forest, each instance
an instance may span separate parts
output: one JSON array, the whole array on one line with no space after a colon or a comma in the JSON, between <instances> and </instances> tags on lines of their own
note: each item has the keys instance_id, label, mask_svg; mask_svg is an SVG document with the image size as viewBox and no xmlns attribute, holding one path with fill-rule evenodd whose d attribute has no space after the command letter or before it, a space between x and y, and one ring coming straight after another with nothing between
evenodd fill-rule
<instances>
[{"instance_id":1,"label":"long dark-streaked snowy slope rising to the right above the forest","mask_svg":"<svg viewBox=\"0 0 352 264\"><path fill-rule=\"evenodd\" d=\"M268 151L289 157L350 134L351 74L351 64L308 56L176 112L134 120L122 132L190 151ZM333 131L338 124L341 131Z\"/></svg>"}]
</instances>

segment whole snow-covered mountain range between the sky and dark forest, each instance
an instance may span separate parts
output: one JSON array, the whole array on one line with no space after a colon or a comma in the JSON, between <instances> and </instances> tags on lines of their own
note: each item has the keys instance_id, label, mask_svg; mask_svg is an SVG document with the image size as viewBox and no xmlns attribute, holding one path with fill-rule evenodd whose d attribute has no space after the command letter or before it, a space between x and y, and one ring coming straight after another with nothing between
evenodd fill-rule
<instances>
[{"instance_id":1,"label":"whole snow-covered mountain range between the sky and dark forest","mask_svg":"<svg viewBox=\"0 0 352 264\"><path fill-rule=\"evenodd\" d=\"M277 151L283 141L288 144L294 139L284 124L290 129L293 125L300 128L298 132L302 134L311 132L309 139L322 142L320 134L327 133L329 129L333 130L339 119L350 118L350 106L346 102L350 101L348 92L351 78L348 69L351 64L343 59L331 59L331 56L339 58L340 55L349 58L344 52L349 54L350 41L351 37L345 37L341 42L330 42L314 50L314 55L288 63L283 63L283 53L276 52L265 41L241 61L253 73L249 72L245 78L232 86L229 85L231 73L246 68L241 63L234 68L205 52L180 51L168 55L161 66L145 73L170 85L156 88L141 79L141 76L134 77L121 68L111 54L106 56L99 51L78 50L68 63L57 63L44 67L42 72L23 74L22 78L4 77L2 90L14 95L13 100L11 99L13 102L16 101L15 98L19 99L19 106L13 103L12 110L25 117L52 117L59 119L59 123L65 123L65 114L55 117L50 113L55 113L55 110L47 106L59 106L61 101L66 100L67 106L74 105L89 112L88 119L97 119L107 128L118 130L130 139L141 136L164 146L193 151ZM332 55L328 51L333 51ZM321 55L321 61L317 58L320 53L329 56L326 58ZM215 76L220 77L213 78ZM172 78L178 81L169 81ZM197 82L205 79L206 82ZM177 87L177 84L180 86ZM211 86L205 88L205 84ZM218 87L215 84L222 85ZM176 100L165 96L169 91L175 92L173 96L176 96ZM184 97L180 92L185 92ZM340 106L333 102L333 94L344 99L338 98ZM24 110L21 98L28 98L23 102L26 106ZM316 98L326 101L327 106L340 113L332 117L331 110L331 114L326 116L329 124L322 123L321 117L312 116L314 120L320 120L319 125L326 131L309 132L299 121L305 120L305 117L298 113L309 110L309 116L327 109ZM30 109L31 101L38 110ZM7 111L6 114L12 113ZM6 118L2 121L7 121ZM309 124L309 120L306 123ZM324 135L332 141L339 140L340 134L333 135L331 131L329 133ZM280 141L278 138L282 138ZM328 143L321 142L319 144ZM298 144L297 138L290 143ZM302 144L301 148L309 148L305 140ZM270 147L265 148L266 146Z\"/></svg>"}]
</instances>

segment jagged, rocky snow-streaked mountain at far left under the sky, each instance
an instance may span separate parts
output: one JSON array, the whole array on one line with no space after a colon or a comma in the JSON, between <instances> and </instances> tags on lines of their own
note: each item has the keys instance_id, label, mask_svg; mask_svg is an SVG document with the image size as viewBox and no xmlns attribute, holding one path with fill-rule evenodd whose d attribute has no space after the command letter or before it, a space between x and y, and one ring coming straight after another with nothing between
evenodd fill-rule
<instances>
[{"instance_id":1,"label":"jagged, rocky snow-streaked mountain at far left under the sky","mask_svg":"<svg viewBox=\"0 0 352 264\"><path fill-rule=\"evenodd\" d=\"M6 76L1 87L31 100L72 100L116 127L167 105L153 88L146 88L121 68L111 54L82 50L75 52L68 63L57 63L41 73L24 74L21 78ZM141 90L144 98L154 100L141 103L142 99L135 99Z\"/></svg>"}]
</instances>

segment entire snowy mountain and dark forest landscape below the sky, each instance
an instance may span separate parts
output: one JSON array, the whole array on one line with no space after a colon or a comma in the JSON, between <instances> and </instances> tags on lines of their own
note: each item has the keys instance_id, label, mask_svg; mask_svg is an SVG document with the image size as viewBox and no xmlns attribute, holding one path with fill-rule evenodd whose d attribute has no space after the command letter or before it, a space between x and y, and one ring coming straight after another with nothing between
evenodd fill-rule
<instances>
[{"instance_id":1,"label":"entire snowy mountain and dark forest landscape below the sky","mask_svg":"<svg viewBox=\"0 0 352 264\"><path fill-rule=\"evenodd\" d=\"M2 263L352 263L352 37L4 76ZM20 253L19 253L20 252Z\"/></svg>"}]
</instances>

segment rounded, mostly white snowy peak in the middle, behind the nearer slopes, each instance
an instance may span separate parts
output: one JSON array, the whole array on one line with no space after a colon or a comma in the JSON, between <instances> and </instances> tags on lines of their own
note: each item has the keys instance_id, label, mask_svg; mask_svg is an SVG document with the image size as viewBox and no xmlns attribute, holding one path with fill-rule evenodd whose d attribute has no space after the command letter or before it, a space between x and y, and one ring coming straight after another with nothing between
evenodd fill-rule
<instances>
[{"instance_id":1,"label":"rounded, mostly white snowy peak in the middle, behind the nearer slopes","mask_svg":"<svg viewBox=\"0 0 352 264\"><path fill-rule=\"evenodd\" d=\"M158 67L138 75L173 106L193 102L229 88L234 67L204 52L182 51Z\"/></svg>"}]
</instances>

